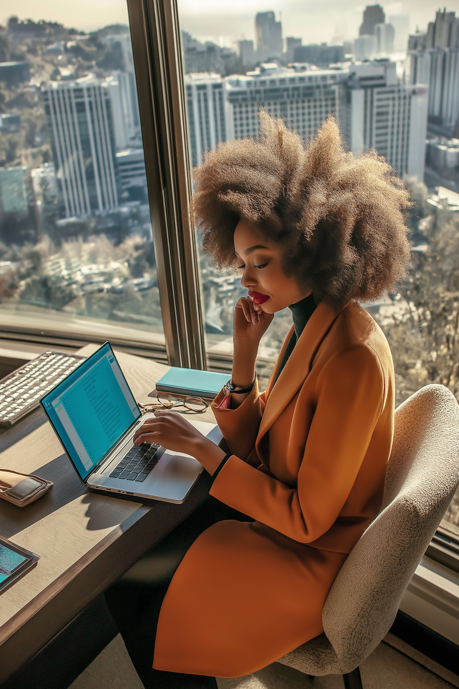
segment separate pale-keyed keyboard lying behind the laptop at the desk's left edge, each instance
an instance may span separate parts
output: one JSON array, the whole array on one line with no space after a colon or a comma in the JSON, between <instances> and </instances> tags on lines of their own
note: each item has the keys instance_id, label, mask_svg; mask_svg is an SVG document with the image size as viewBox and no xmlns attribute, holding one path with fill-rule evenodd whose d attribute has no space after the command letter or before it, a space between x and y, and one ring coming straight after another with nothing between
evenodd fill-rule
<instances>
[{"instance_id":1,"label":"separate pale-keyed keyboard lying behind the laptop at the desk's left edge","mask_svg":"<svg viewBox=\"0 0 459 689\"><path fill-rule=\"evenodd\" d=\"M0 380L0 426L12 426L39 406L39 399L72 373L84 356L45 351Z\"/></svg>"}]
</instances>

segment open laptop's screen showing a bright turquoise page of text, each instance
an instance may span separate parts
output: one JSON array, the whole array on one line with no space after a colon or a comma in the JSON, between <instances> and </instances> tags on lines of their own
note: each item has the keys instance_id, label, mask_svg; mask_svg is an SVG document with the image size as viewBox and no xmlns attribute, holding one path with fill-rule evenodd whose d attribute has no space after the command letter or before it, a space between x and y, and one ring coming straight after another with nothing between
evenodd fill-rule
<instances>
[{"instance_id":1,"label":"open laptop's screen showing a bright turquoise page of text","mask_svg":"<svg viewBox=\"0 0 459 689\"><path fill-rule=\"evenodd\" d=\"M108 342L40 402L82 481L140 417Z\"/></svg>"}]
</instances>

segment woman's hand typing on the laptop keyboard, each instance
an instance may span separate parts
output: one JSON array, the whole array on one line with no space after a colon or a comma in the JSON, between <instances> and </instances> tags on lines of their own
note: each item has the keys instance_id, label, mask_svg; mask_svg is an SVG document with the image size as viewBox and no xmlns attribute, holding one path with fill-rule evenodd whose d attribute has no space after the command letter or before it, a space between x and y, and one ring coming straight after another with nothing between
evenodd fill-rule
<instances>
[{"instance_id":1,"label":"woman's hand typing on the laptop keyboard","mask_svg":"<svg viewBox=\"0 0 459 689\"><path fill-rule=\"evenodd\" d=\"M197 431L176 411L158 411L155 418L145 420L134 433L134 445L156 442L167 450L195 457L212 475L225 456L214 442Z\"/></svg>"}]
</instances>

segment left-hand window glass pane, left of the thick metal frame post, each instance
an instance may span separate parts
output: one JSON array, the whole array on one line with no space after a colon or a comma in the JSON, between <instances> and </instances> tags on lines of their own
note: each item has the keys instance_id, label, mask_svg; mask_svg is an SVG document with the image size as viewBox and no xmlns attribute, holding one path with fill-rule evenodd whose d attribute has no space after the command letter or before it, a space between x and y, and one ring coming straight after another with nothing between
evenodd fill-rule
<instances>
[{"instance_id":1,"label":"left-hand window glass pane, left of the thick metal frame post","mask_svg":"<svg viewBox=\"0 0 459 689\"><path fill-rule=\"evenodd\" d=\"M162 348L126 2L34 7L0 34L1 324Z\"/></svg>"}]
</instances>

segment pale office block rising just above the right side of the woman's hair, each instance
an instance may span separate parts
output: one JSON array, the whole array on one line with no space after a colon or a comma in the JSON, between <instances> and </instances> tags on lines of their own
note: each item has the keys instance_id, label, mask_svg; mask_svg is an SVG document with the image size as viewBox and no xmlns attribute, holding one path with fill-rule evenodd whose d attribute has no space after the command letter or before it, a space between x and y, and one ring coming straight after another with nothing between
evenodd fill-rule
<instances>
[{"instance_id":1,"label":"pale office block rising just above the right side of the woman's hair","mask_svg":"<svg viewBox=\"0 0 459 689\"><path fill-rule=\"evenodd\" d=\"M403 85L396 64L373 61L352 65L341 111L343 136L350 150L376 148L398 176L424 177L427 85Z\"/></svg>"}]
</instances>

